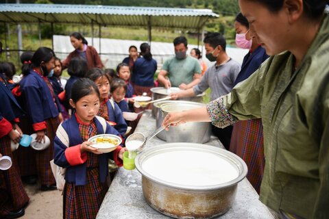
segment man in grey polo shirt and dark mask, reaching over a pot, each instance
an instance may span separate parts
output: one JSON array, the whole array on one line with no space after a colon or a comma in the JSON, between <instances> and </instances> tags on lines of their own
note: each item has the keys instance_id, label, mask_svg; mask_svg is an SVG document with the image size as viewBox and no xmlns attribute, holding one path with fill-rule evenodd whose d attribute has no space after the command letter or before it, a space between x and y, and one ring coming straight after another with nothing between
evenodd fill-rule
<instances>
[{"instance_id":1,"label":"man in grey polo shirt and dark mask, reaching over a pot","mask_svg":"<svg viewBox=\"0 0 329 219\"><path fill-rule=\"evenodd\" d=\"M228 94L234 87L234 81L240 71L240 65L226 53L226 39L219 33L208 34L204 38L204 47L206 49L206 57L210 62L215 62L215 64L207 68L206 73L204 73L197 85L187 90L171 93L171 99L197 96L210 88L210 101L213 101L219 96ZM212 133L219 138L226 149L229 149L232 126L224 129L212 126Z\"/></svg>"}]
</instances>

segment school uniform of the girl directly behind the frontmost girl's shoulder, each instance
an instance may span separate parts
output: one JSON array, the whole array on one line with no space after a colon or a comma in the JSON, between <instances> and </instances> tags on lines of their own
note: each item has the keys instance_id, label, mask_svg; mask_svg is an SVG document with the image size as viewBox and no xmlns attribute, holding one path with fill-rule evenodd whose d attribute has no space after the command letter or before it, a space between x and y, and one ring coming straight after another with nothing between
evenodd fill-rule
<instances>
[{"instance_id":1,"label":"school uniform of the girl directly behind the frontmost girl's shoulder","mask_svg":"<svg viewBox=\"0 0 329 219\"><path fill-rule=\"evenodd\" d=\"M119 131L121 136L125 135L125 131L127 131L127 123L125 123L125 119L122 116L119 105L117 105L117 103L113 100L105 99L99 106L97 116L101 116L107 121L113 121L116 123L114 128Z\"/></svg>"}]
</instances>

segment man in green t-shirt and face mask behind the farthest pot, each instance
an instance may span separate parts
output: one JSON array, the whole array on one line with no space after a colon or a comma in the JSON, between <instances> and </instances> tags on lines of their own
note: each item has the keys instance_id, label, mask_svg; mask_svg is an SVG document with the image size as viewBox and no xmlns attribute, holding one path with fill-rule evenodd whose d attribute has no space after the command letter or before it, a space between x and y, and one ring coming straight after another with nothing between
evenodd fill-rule
<instances>
[{"instance_id":1,"label":"man in green t-shirt and face mask behind the farthest pot","mask_svg":"<svg viewBox=\"0 0 329 219\"><path fill-rule=\"evenodd\" d=\"M158 75L158 81L165 88L179 87L182 90L192 88L199 83L201 67L195 58L186 55L187 40L179 36L173 40L175 57L166 60ZM167 79L168 77L168 79Z\"/></svg>"}]
</instances>

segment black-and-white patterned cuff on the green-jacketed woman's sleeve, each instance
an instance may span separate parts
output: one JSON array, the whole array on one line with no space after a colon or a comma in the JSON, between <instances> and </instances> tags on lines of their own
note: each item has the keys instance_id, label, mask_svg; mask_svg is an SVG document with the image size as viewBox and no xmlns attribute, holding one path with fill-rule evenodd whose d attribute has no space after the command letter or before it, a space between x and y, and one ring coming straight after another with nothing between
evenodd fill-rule
<instances>
[{"instance_id":1,"label":"black-and-white patterned cuff on the green-jacketed woman's sleeve","mask_svg":"<svg viewBox=\"0 0 329 219\"><path fill-rule=\"evenodd\" d=\"M211 123L216 127L225 128L237 122L236 118L226 110L222 97L208 103L207 111Z\"/></svg>"}]
</instances>

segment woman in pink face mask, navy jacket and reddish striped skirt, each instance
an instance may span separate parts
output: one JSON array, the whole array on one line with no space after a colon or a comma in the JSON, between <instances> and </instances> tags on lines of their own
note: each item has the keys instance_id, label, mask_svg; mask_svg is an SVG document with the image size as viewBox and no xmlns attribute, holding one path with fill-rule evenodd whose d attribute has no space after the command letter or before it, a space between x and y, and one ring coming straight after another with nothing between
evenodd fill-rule
<instances>
[{"instance_id":1,"label":"woman in pink face mask, navy jacket and reddish striped skirt","mask_svg":"<svg viewBox=\"0 0 329 219\"><path fill-rule=\"evenodd\" d=\"M247 79L269 57L257 40L253 40L249 33L247 19L239 13L234 21L236 31L236 46L249 49L243 59L241 71L236 77L234 86ZM260 183L265 168L263 124L260 118L243 120L234 124L230 151L239 155L248 167L247 179L256 192L260 192Z\"/></svg>"}]
</instances>

